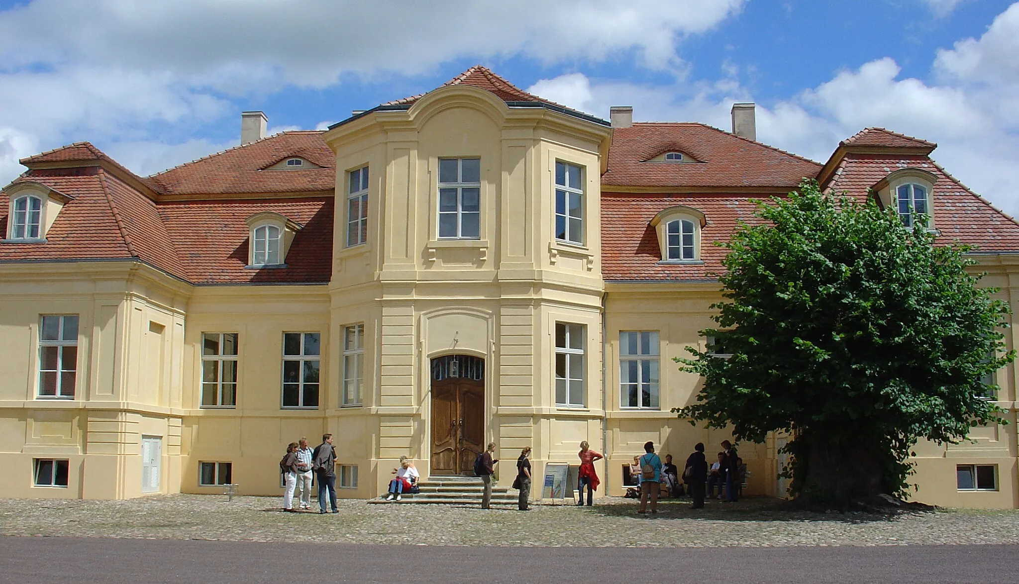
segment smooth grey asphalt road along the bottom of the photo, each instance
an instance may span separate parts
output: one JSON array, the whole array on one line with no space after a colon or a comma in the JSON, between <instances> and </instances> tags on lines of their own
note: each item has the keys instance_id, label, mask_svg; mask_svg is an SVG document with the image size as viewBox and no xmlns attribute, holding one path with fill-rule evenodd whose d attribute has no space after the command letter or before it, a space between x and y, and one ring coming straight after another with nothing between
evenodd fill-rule
<instances>
[{"instance_id":1,"label":"smooth grey asphalt road along the bottom of the photo","mask_svg":"<svg viewBox=\"0 0 1019 584\"><path fill-rule=\"evenodd\" d=\"M1016 582L1019 545L441 547L0 537L0 582Z\"/></svg>"}]
</instances>

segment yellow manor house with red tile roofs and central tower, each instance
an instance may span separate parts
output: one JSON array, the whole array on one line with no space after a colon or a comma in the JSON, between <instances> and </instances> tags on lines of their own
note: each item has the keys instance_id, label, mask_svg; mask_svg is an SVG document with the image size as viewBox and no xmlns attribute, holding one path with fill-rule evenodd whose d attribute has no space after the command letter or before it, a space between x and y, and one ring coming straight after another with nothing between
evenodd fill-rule
<instances>
[{"instance_id":1,"label":"yellow manor house with red tile roofs and central tower","mask_svg":"<svg viewBox=\"0 0 1019 584\"><path fill-rule=\"evenodd\" d=\"M384 492L401 455L468 474L489 441L508 486L523 446L541 476L581 440L621 495L645 441L682 465L730 437L669 412L698 389L672 360L706 347L713 243L804 177L927 211L1013 301L1019 224L934 144L866 128L819 164L756 142L753 104L732 114L605 121L476 66L324 131L266 137L245 112L240 146L152 176L89 143L21 160L0 206L0 496L276 495L285 445L323 432L341 497ZM1015 370L995 377L1012 423L918 444L916 499L1019 507ZM785 494L782 443L740 444L747 493Z\"/></svg>"}]
</instances>

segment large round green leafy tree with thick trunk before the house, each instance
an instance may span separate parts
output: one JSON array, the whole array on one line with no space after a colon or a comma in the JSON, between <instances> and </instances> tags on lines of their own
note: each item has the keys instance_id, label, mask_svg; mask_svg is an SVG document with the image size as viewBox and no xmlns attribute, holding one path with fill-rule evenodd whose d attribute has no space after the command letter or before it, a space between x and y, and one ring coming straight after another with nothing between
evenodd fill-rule
<instances>
[{"instance_id":1,"label":"large round green leafy tree with thick trunk before the house","mask_svg":"<svg viewBox=\"0 0 1019 584\"><path fill-rule=\"evenodd\" d=\"M969 248L813 181L756 216L723 245L727 300L702 331L716 344L677 359L703 377L681 418L739 440L788 432L792 493L838 507L907 496L918 439L954 443L1001 421L983 379L1014 359L1009 307L977 287Z\"/></svg>"}]
</instances>

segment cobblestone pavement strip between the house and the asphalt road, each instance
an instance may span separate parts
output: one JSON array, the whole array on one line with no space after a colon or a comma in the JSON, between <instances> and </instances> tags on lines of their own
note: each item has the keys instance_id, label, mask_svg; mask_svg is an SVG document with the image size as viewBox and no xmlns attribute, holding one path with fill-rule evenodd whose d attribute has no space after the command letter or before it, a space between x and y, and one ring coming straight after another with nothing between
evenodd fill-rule
<instances>
[{"instance_id":1,"label":"cobblestone pavement strip between the house and the asphalt road","mask_svg":"<svg viewBox=\"0 0 1019 584\"><path fill-rule=\"evenodd\" d=\"M0 534L428 545L779 546L1019 543L1019 511L938 510L894 518L812 514L748 497L665 500L640 516L632 499L590 508L484 511L341 500L336 515L288 514L278 497L162 495L130 500L0 499Z\"/></svg>"}]
</instances>

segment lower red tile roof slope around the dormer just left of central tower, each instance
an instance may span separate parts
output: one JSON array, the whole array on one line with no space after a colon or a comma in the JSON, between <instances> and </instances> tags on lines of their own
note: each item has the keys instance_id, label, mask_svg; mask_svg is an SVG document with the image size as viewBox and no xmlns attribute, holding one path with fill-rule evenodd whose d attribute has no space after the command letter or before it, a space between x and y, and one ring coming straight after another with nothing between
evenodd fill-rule
<instances>
[{"instance_id":1,"label":"lower red tile roof slope around the dormer just left of central tower","mask_svg":"<svg viewBox=\"0 0 1019 584\"><path fill-rule=\"evenodd\" d=\"M246 219L263 211L304 226L290 244L286 268L245 268L250 245ZM325 283L332 273L332 197L166 202L159 205L159 214L194 283Z\"/></svg>"}]
</instances>

